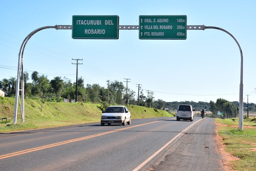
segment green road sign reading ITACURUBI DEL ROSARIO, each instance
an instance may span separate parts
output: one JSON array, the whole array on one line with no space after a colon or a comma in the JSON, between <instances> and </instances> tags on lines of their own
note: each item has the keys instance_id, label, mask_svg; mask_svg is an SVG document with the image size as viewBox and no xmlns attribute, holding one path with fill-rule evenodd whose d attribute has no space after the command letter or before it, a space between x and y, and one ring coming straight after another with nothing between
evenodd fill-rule
<instances>
[{"instance_id":1,"label":"green road sign reading ITACURUBI DEL ROSARIO","mask_svg":"<svg viewBox=\"0 0 256 171\"><path fill-rule=\"evenodd\" d=\"M73 16L73 39L118 39L118 16Z\"/></svg>"}]
</instances>

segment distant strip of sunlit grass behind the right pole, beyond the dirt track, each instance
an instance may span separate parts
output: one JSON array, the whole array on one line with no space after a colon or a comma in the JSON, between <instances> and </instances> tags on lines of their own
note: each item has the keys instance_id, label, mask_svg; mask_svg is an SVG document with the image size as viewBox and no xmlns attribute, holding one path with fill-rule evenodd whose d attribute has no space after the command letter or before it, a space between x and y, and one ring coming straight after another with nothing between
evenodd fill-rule
<instances>
[{"instance_id":1,"label":"distant strip of sunlit grass behind the right pole, beyond the dirt track","mask_svg":"<svg viewBox=\"0 0 256 171\"><path fill-rule=\"evenodd\" d=\"M222 125L238 126L238 118L231 118L231 119L216 118L216 122L219 124L222 124ZM244 126L256 126L256 118L255 117L244 118L243 125Z\"/></svg>"}]
</instances>

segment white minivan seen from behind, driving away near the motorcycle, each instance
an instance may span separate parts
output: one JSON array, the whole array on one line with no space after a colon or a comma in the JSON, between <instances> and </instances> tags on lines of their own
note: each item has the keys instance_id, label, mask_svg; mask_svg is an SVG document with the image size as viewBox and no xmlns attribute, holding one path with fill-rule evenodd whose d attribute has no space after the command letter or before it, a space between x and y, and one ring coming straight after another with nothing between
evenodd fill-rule
<instances>
[{"instance_id":1,"label":"white minivan seen from behind, driving away near the motorcycle","mask_svg":"<svg viewBox=\"0 0 256 171\"><path fill-rule=\"evenodd\" d=\"M194 120L194 112L192 110L191 105L179 105L177 110L177 121L182 120L190 120L191 122Z\"/></svg>"}]
</instances>

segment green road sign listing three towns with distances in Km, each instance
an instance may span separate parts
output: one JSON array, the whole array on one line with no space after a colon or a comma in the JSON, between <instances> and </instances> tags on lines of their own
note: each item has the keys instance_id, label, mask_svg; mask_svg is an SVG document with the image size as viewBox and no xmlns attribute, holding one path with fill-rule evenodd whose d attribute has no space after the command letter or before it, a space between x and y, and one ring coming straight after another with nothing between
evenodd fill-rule
<instances>
[{"instance_id":1,"label":"green road sign listing three towns with distances in Km","mask_svg":"<svg viewBox=\"0 0 256 171\"><path fill-rule=\"evenodd\" d=\"M187 16L140 16L139 39L187 39Z\"/></svg>"}]
</instances>

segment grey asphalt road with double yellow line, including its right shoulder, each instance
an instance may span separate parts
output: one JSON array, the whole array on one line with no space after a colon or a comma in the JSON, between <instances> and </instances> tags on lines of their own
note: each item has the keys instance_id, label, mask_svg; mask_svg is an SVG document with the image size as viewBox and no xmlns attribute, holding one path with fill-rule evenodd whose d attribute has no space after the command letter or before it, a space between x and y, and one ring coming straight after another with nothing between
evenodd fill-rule
<instances>
[{"instance_id":1,"label":"grey asphalt road with double yellow line, including its right shoulder","mask_svg":"<svg viewBox=\"0 0 256 171\"><path fill-rule=\"evenodd\" d=\"M203 132L205 136L202 136ZM100 123L94 123L53 130L2 133L0 170L133 170L178 134L181 136L141 166L140 170L222 169L217 162L220 156L212 143L214 120L195 117L193 122L176 121L175 118L150 118L132 120L132 125L126 126L100 126ZM175 149L176 154L167 154ZM200 157L211 161L216 159L216 162L209 165L208 169L193 169L192 166L197 166L194 164L202 163ZM170 163L177 162L179 169L170 167Z\"/></svg>"}]
</instances>

